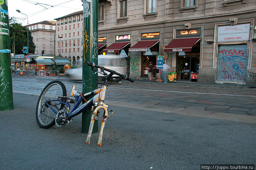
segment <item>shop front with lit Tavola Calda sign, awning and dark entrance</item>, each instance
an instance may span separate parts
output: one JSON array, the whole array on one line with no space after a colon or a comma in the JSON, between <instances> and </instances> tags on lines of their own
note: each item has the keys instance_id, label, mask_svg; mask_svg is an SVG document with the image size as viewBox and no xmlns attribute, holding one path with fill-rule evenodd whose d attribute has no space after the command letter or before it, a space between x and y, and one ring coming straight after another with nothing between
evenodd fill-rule
<instances>
[{"instance_id":1,"label":"shop front with lit Tavola Calda sign, awning and dark entrance","mask_svg":"<svg viewBox=\"0 0 256 170\"><path fill-rule=\"evenodd\" d=\"M197 81L200 51L201 28L176 30L176 38L164 48L164 52L175 53L177 79Z\"/></svg>"}]
</instances>

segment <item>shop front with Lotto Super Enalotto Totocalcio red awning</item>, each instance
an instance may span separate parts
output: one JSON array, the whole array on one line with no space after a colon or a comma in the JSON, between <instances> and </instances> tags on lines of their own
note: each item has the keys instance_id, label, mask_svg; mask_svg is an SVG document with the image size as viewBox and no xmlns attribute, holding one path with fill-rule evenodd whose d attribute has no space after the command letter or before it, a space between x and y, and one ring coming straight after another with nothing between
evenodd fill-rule
<instances>
[{"instance_id":1,"label":"shop front with Lotto Super Enalotto Totocalcio red awning","mask_svg":"<svg viewBox=\"0 0 256 170\"><path fill-rule=\"evenodd\" d=\"M129 48L129 52L133 55L131 59L131 70L141 70L141 78L148 77L147 68L150 62L152 62L152 64L156 67L156 57L159 55L159 35L159 32L141 33L141 41ZM141 68L137 68L138 61L141 61ZM136 73L139 73L139 71ZM157 73L159 73L159 69L154 69L152 76L156 77Z\"/></svg>"}]
</instances>

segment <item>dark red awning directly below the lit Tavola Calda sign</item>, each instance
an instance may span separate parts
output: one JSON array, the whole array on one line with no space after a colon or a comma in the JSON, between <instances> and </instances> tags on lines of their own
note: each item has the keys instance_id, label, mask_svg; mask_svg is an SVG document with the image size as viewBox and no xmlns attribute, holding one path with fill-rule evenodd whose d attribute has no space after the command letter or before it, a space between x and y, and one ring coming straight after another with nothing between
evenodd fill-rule
<instances>
[{"instance_id":1,"label":"dark red awning directly below the lit Tavola Calda sign","mask_svg":"<svg viewBox=\"0 0 256 170\"><path fill-rule=\"evenodd\" d=\"M201 38L182 38L182 39L173 39L170 44L165 48L165 52L179 52L179 51L191 51L192 47L200 40Z\"/></svg>"}]
</instances>

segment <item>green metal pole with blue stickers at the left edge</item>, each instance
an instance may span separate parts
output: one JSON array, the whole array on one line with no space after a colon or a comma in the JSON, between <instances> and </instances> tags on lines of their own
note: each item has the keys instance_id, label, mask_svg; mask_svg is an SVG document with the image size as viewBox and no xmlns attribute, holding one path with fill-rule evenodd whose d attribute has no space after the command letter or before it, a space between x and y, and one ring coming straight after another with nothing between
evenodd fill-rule
<instances>
[{"instance_id":1,"label":"green metal pole with blue stickers at the left edge","mask_svg":"<svg viewBox=\"0 0 256 170\"><path fill-rule=\"evenodd\" d=\"M5 0L0 0L0 111L13 109L11 46L8 6Z\"/></svg>"}]
</instances>

